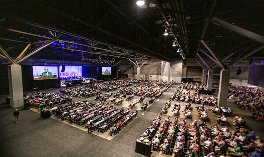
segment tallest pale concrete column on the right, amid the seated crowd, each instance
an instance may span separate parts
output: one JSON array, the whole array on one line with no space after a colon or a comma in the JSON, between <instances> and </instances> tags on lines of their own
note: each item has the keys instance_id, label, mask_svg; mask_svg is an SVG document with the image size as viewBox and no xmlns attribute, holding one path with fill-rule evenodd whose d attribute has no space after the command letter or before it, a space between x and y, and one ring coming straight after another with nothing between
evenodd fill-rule
<instances>
[{"instance_id":1,"label":"tallest pale concrete column on the right, amid the seated crowd","mask_svg":"<svg viewBox=\"0 0 264 157\"><path fill-rule=\"evenodd\" d=\"M229 86L230 71L222 69L220 73L219 91L217 106L226 107L228 97L228 86Z\"/></svg>"}]
</instances>

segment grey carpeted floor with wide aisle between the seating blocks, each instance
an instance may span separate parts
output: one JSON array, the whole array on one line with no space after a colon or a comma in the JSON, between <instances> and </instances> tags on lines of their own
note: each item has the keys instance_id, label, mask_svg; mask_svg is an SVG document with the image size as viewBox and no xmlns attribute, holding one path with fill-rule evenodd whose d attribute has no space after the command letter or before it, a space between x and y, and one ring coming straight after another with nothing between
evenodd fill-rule
<instances>
[{"instance_id":1,"label":"grey carpeted floor with wide aisle between the seating blocks","mask_svg":"<svg viewBox=\"0 0 264 157\"><path fill-rule=\"evenodd\" d=\"M138 117L111 141L51 118L42 119L39 113L30 110L20 109L19 123L16 124L13 117L14 109L8 105L0 105L1 156L141 156L135 153L136 139L150 125L151 121L160 114L161 108L169 100L176 87L175 85L172 89L169 89L165 93L166 95L159 98L159 101L155 100L146 109L145 116L141 116L142 111L139 111ZM93 98L91 97L89 100L93 100ZM252 112L238 108L232 100L228 100L228 104L234 111L233 116L235 114L243 115L247 122L246 128L255 130L258 136L264 138L264 125L251 118ZM184 106L184 104L182 105ZM197 105L193 105L194 112L192 114L194 114L194 119L197 119L195 106ZM210 106L206 107L209 108ZM211 122L208 122L209 126L215 123L215 116L209 114L211 119ZM187 122L191 122L191 120L187 120ZM232 129L234 128L232 127Z\"/></svg>"}]
</instances>

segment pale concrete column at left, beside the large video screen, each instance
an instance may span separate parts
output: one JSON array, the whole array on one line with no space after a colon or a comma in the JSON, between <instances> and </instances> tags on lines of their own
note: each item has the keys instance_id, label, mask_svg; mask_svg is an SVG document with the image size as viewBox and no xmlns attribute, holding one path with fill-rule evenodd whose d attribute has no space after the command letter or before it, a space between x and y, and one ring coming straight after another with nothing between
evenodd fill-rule
<instances>
[{"instance_id":1,"label":"pale concrete column at left, beside the large video screen","mask_svg":"<svg viewBox=\"0 0 264 157\"><path fill-rule=\"evenodd\" d=\"M10 106L13 108L24 106L21 65L8 65L8 84Z\"/></svg>"}]
</instances>

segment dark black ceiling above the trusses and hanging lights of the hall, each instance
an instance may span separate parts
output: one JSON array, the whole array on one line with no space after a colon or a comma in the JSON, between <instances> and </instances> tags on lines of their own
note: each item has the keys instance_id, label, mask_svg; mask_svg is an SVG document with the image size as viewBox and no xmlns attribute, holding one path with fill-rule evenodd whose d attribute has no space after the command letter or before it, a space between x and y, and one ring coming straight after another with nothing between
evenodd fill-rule
<instances>
[{"instance_id":1,"label":"dark black ceiling above the trusses and hanging lights of the hall","mask_svg":"<svg viewBox=\"0 0 264 157\"><path fill-rule=\"evenodd\" d=\"M155 8L147 7L146 9L137 6L136 0L35 0L31 2L3 0L0 8L2 10L0 20L5 19L0 22L1 37L25 41L25 43L17 43L0 40L3 48L13 47L13 50L8 52L12 57L19 55L28 41L40 41L40 38L17 35L7 29L49 37L45 29L16 21L15 18L70 32L108 45L98 46L99 48L109 49L109 46L116 46L123 48L133 56L142 55L140 57L143 59L157 58L166 61L181 59L177 52L179 47L172 47L175 37L185 56L194 58L206 20L212 17L264 35L264 3L262 0L157 0ZM168 36L163 35L166 28L170 31ZM63 35L59 39L87 45L80 39L69 39L69 35ZM236 57L245 49L253 49L260 45L256 41L210 21L203 40L207 41L220 58L233 52L236 52L234 55ZM56 48L58 44L59 41L57 45L51 45L31 57L62 59L62 53L65 53L69 54L64 55L66 60L80 60L83 55L80 51L73 53L70 49L62 52L61 49ZM76 48L81 51L91 51L87 47L86 49L78 46ZM205 50L203 46L200 48ZM106 53L103 57L105 59L116 58L110 54ZM98 52L97 55L91 55L91 53L85 55L97 58L101 54ZM132 58L132 56L129 57ZM202 57L206 58L206 56ZM264 57L264 51L258 51L253 57ZM127 58L121 57L116 60L122 59Z\"/></svg>"}]
</instances>

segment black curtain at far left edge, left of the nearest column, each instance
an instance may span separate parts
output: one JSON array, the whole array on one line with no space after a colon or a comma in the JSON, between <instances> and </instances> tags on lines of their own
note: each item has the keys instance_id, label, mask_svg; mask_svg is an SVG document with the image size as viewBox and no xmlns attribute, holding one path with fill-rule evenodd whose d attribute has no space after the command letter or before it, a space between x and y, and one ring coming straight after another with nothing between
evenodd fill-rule
<instances>
[{"instance_id":1,"label":"black curtain at far left edge, left of the nearest column","mask_svg":"<svg viewBox=\"0 0 264 157\"><path fill-rule=\"evenodd\" d=\"M9 94L7 65L0 65L0 95Z\"/></svg>"}]
</instances>

